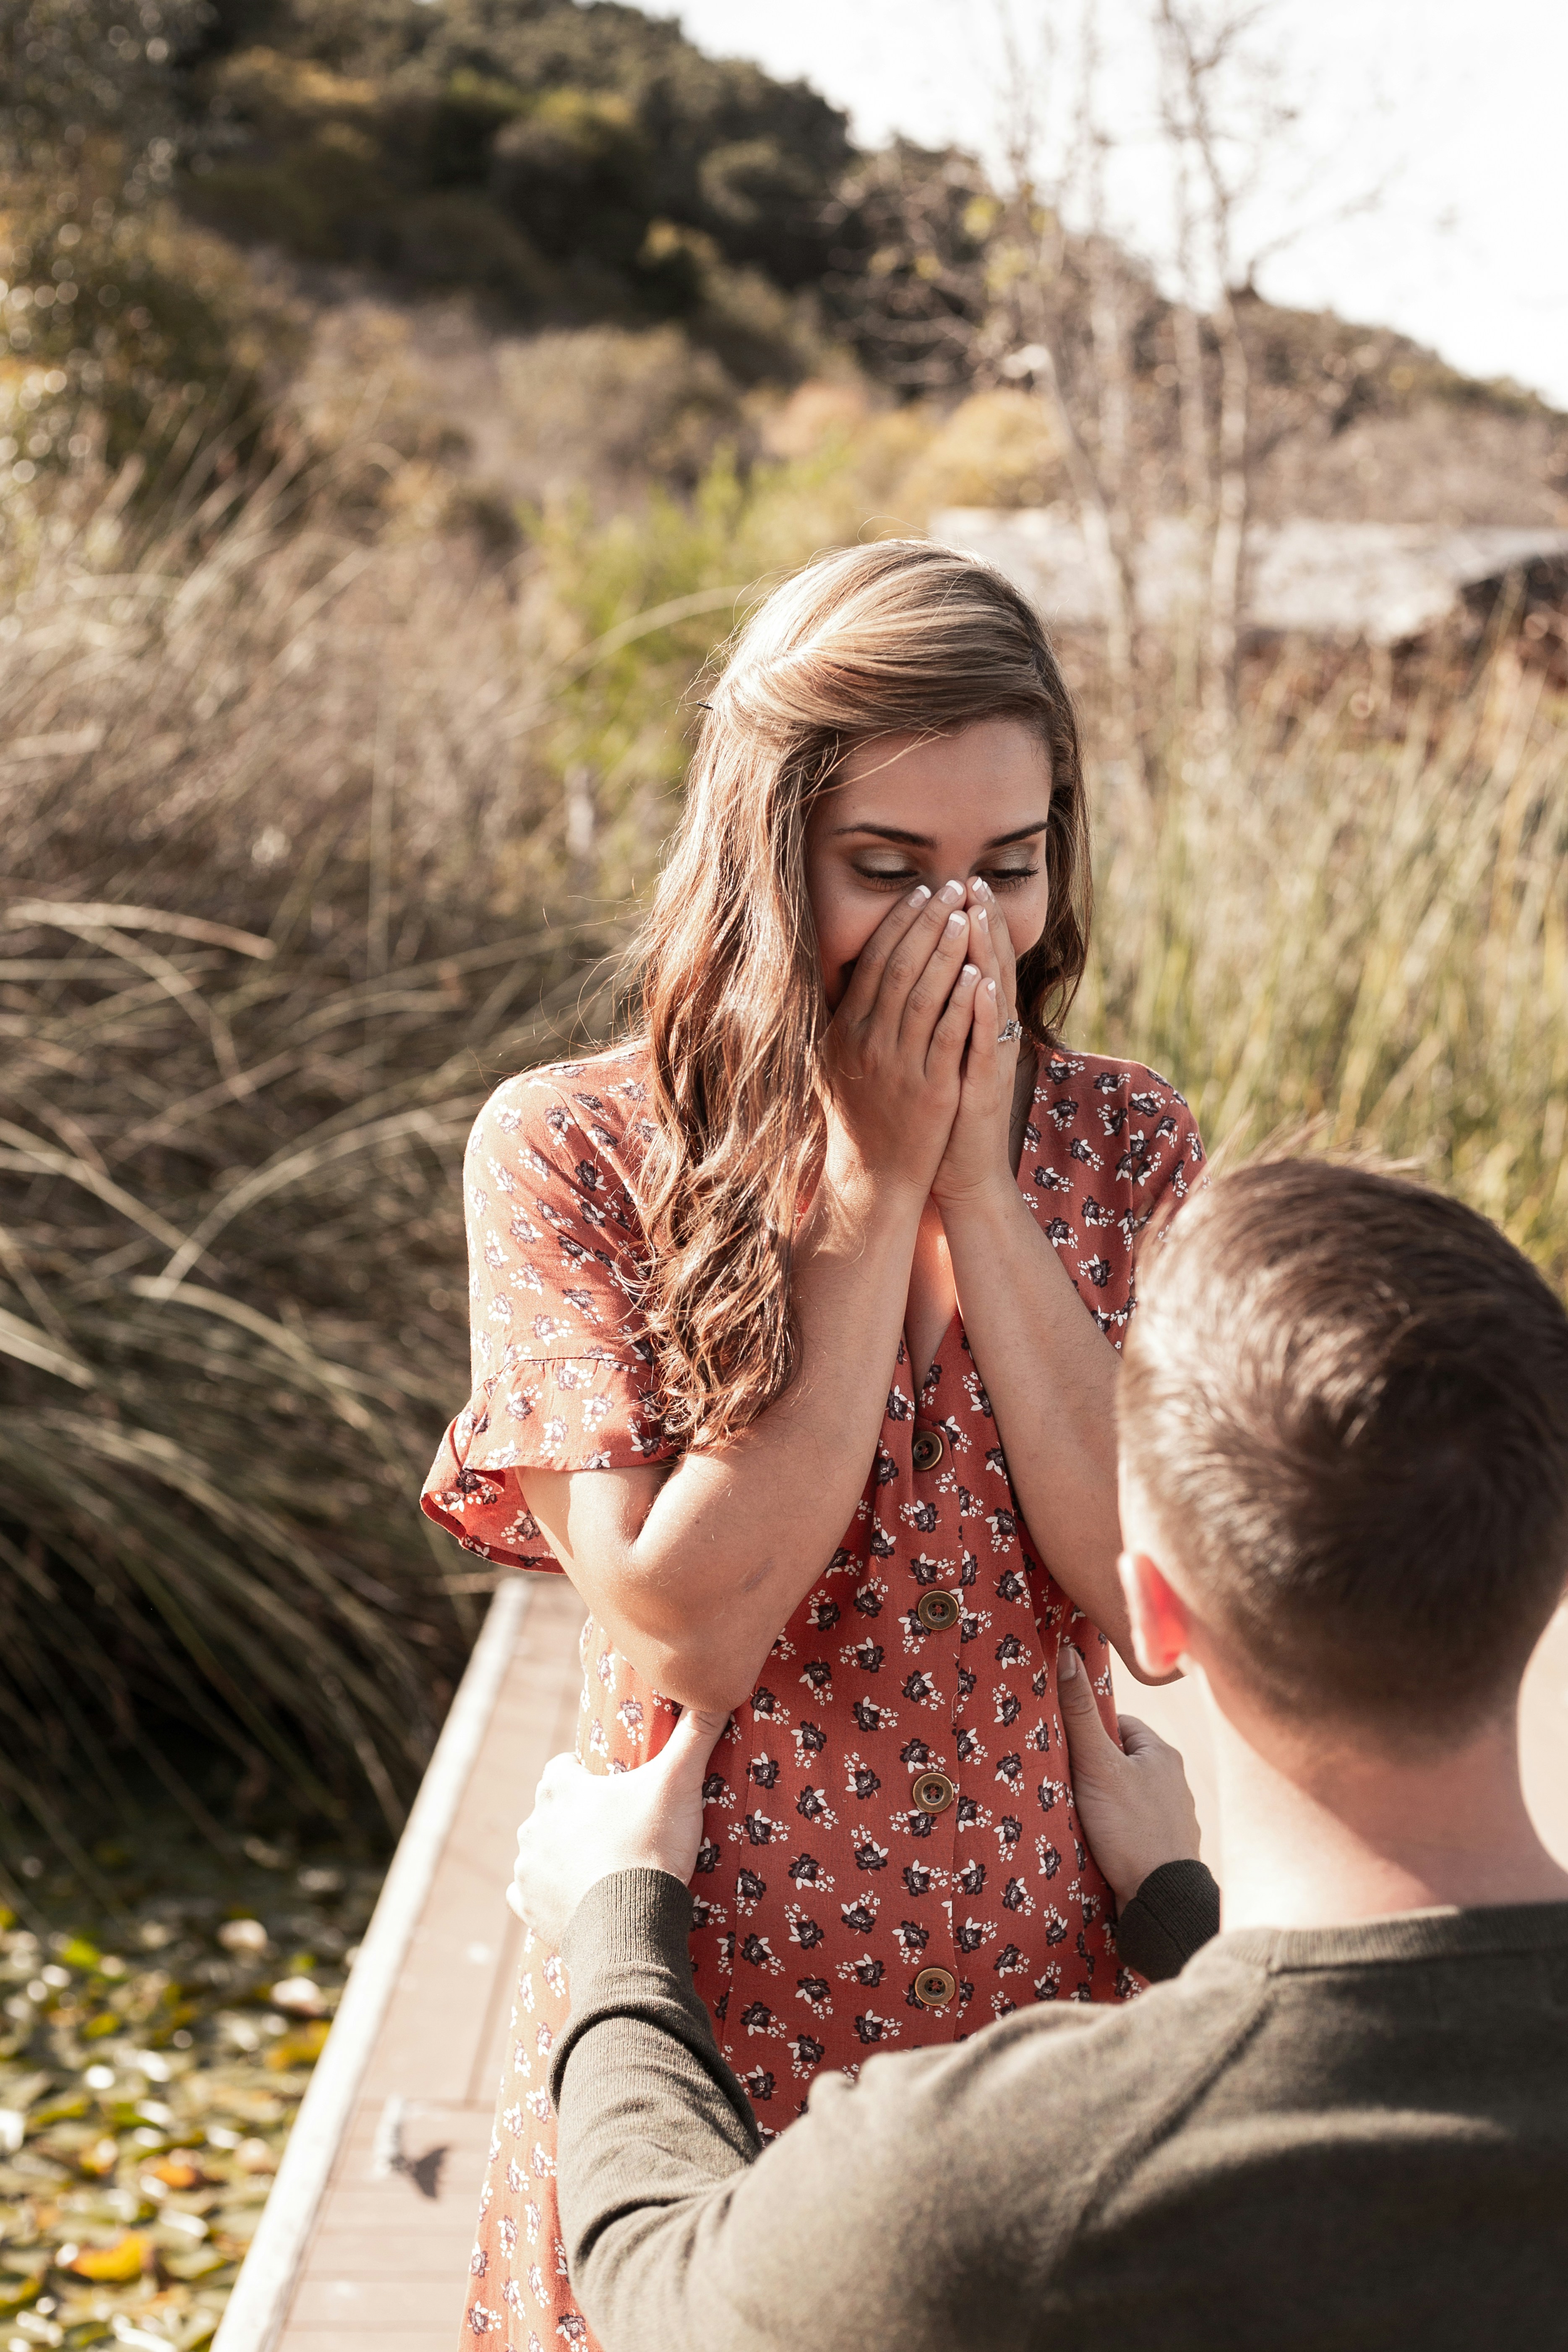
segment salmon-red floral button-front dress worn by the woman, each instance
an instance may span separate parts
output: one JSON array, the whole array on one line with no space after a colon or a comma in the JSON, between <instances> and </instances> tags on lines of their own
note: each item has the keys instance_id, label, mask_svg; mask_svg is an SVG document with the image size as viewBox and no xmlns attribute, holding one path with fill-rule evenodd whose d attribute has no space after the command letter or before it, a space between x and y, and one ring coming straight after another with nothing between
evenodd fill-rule
<instances>
[{"instance_id":1,"label":"salmon-red floral button-front dress worn by the woman","mask_svg":"<svg viewBox=\"0 0 1568 2352\"><path fill-rule=\"evenodd\" d=\"M555 1559L520 1470L675 1456L637 1315L646 1049L508 1080L465 1162L473 1395L423 1508L503 1566ZM1112 1343L1133 1242L1204 1157L1161 1077L1041 1054L1018 1185ZM877 1456L832 1559L780 1630L705 1785L691 1966L764 2133L823 2067L957 2042L1020 2002L1117 2002L1112 1898L1077 1830L1056 1698L1063 1635L1107 1722L1105 1635L1039 1557L954 1317L914 1390L900 1350ZM583 1628L578 1757L628 1771L675 1708ZM520 1792L520 1802L527 1792ZM473 2251L468 2333L592 2345L555 2206L550 2042L562 1962L524 1945Z\"/></svg>"}]
</instances>

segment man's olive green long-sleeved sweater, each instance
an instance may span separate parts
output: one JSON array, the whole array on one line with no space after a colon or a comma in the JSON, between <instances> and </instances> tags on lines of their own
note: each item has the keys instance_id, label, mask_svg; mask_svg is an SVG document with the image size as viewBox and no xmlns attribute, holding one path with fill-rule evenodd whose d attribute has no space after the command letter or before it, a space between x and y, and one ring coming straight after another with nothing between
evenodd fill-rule
<instances>
[{"instance_id":1,"label":"man's olive green long-sleeved sweater","mask_svg":"<svg viewBox=\"0 0 1568 2352\"><path fill-rule=\"evenodd\" d=\"M823 2077L766 2147L689 1924L628 1870L564 1945L607 2352L1568 2347L1568 1903L1220 1936L1121 2009Z\"/></svg>"}]
</instances>

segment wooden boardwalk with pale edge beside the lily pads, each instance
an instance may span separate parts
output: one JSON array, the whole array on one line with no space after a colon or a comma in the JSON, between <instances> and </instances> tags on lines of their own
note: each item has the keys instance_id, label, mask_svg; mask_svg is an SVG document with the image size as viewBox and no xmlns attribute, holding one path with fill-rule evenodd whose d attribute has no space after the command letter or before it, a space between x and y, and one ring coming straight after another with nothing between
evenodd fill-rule
<instances>
[{"instance_id":1,"label":"wooden boardwalk with pale edge beside the lily pads","mask_svg":"<svg viewBox=\"0 0 1568 2352\"><path fill-rule=\"evenodd\" d=\"M456 2352L522 1936L503 1889L541 1766L571 1748L581 1623L562 1576L496 1595L214 2352ZM1117 1696L1182 1748L1220 1870L1197 1693ZM1530 1665L1523 1757L1568 1865L1568 1609Z\"/></svg>"}]
</instances>

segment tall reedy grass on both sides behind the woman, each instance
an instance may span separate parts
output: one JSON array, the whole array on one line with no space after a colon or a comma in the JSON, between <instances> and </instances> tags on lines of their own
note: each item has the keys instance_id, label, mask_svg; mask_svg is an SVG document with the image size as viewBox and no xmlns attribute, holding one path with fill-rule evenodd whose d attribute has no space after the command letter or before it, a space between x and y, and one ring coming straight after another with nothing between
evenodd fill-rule
<instances>
[{"instance_id":1,"label":"tall reedy grass on both sides behind the woman","mask_svg":"<svg viewBox=\"0 0 1568 2352\"><path fill-rule=\"evenodd\" d=\"M129 1757L214 1837L400 1818L484 1585L414 1508L468 1122L604 1035L689 687L877 463L719 461L508 560L416 466L374 510L343 463L158 529L92 473L7 506L0 1870L134 1811ZM1415 1160L1563 1282L1561 713L1507 649L1396 720L1305 677L1100 781L1074 1035L1211 1145Z\"/></svg>"}]
</instances>

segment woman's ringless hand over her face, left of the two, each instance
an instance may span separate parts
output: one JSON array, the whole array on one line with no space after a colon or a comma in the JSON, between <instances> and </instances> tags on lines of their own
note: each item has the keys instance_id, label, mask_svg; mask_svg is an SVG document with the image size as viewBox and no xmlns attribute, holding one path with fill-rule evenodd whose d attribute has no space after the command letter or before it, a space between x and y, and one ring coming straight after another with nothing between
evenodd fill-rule
<instances>
[{"instance_id":1,"label":"woman's ringless hand over her face, left of the two","mask_svg":"<svg viewBox=\"0 0 1568 2352\"><path fill-rule=\"evenodd\" d=\"M964 884L919 889L872 931L823 1042L827 1171L931 1190L959 1108L959 1068L980 969ZM1006 1134L1004 1134L1006 1150Z\"/></svg>"}]
</instances>

